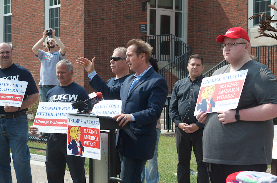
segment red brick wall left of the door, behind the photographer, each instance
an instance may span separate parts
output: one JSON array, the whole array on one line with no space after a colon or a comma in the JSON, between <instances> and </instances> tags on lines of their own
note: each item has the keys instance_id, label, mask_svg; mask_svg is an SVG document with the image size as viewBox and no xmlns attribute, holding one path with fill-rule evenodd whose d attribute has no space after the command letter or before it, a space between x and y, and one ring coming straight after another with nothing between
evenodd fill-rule
<instances>
[{"instance_id":1,"label":"red brick wall left of the door, behind the photographer","mask_svg":"<svg viewBox=\"0 0 277 183\"><path fill-rule=\"evenodd\" d=\"M67 49L66 59L74 67L73 81L93 92L86 71L76 64L78 57L95 57L95 69L104 81L115 77L109 57L116 47L140 38L139 22L147 22L147 11L142 11L140 0L61 0L61 41ZM13 2L14 63L26 67L37 85L40 62L32 46L42 38L43 30L44 0ZM43 46L40 49L46 50Z\"/></svg>"}]
</instances>

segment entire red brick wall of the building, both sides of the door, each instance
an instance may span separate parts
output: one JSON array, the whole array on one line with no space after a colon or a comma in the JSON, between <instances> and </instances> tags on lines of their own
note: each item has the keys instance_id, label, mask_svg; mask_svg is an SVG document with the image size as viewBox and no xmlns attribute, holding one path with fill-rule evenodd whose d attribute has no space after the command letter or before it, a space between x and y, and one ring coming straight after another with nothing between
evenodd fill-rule
<instances>
[{"instance_id":1,"label":"entire red brick wall of the building, both sides of the door","mask_svg":"<svg viewBox=\"0 0 277 183\"><path fill-rule=\"evenodd\" d=\"M61 41L66 59L74 66L73 80L87 91L87 73L76 64L78 57L95 57L95 68L104 81L114 74L109 57L114 48L125 46L128 40L140 38L139 22L147 22L141 0L61 0ZM188 42L193 52L201 54L205 64L217 64L224 59L216 37L228 28L241 26L247 30L248 1L188 0ZM44 30L44 0L13 2L14 63L29 69L39 83L40 62L32 46ZM41 49L45 49L41 46ZM46 49L45 49L46 50Z\"/></svg>"}]
</instances>

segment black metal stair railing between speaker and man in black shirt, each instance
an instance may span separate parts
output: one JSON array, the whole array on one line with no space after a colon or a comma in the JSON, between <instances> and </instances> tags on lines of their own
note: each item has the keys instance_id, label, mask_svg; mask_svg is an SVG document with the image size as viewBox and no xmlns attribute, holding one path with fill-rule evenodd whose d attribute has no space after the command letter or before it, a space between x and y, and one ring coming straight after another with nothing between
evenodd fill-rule
<instances>
[{"instance_id":1,"label":"black metal stair railing between speaker and man in black shirt","mask_svg":"<svg viewBox=\"0 0 277 183\"><path fill-rule=\"evenodd\" d=\"M172 92L176 81L187 77L188 58L193 54L191 46L173 34L143 36L142 40L153 46L152 55L159 63L166 65L159 69L159 74L168 83L168 93Z\"/></svg>"}]
</instances>

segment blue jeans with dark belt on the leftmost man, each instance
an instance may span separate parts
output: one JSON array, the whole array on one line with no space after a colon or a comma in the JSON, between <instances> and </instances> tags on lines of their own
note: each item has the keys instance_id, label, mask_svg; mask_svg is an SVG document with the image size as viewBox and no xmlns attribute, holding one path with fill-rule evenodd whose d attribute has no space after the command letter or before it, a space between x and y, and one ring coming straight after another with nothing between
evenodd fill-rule
<instances>
[{"instance_id":1,"label":"blue jeans with dark belt on the leftmost man","mask_svg":"<svg viewBox=\"0 0 277 183\"><path fill-rule=\"evenodd\" d=\"M0 119L0 180L11 183L11 157L18 183L32 183L30 151L28 148L27 115Z\"/></svg>"}]
</instances>

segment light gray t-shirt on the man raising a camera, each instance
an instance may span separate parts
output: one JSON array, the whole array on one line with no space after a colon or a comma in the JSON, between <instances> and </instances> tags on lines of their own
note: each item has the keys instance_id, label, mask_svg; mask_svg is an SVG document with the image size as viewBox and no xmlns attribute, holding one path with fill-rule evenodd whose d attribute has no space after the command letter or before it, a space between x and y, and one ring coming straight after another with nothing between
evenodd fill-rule
<instances>
[{"instance_id":1,"label":"light gray t-shirt on the man raising a camera","mask_svg":"<svg viewBox=\"0 0 277 183\"><path fill-rule=\"evenodd\" d=\"M66 54L64 56L61 55L60 50L52 54L39 49L39 55L36 56L41 61L39 85L59 85L56 75L56 63L63 60L65 56Z\"/></svg>"}]
</instances>

